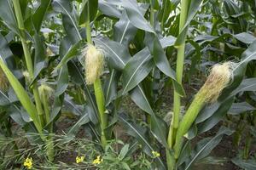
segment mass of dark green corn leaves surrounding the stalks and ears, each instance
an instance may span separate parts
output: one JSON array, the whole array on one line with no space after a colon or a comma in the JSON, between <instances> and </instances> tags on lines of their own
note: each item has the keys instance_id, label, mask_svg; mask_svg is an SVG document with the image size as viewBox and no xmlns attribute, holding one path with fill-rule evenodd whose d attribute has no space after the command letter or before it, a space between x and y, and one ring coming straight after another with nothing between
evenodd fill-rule
<instances>
[{"instance_id":1,"label":"mass of dark green corn leaves surrounding the stalks and ears","mask_svg":"<svg viewBox=\"0 0 256 170\"><path fill-rule=\"evenodd\" d=\"M86 37L87 2L94 9L90 14L93 41L104 49L106 56L102 82L109 139L114 137L113 128L118 125L133 137L132 142L141 144L148 156L152 156L153 150L163 150L170 123L170 113L160 111L166 90L171 87L183 95L186 109L208 69L232 60L237 63L234 79L218 101L206 105L197 117L177 165L180 169L191 168L193 163L208 156L224 134L232 134L237 147L243 144L232 161L241 168L255 167L255 157L250 152L256 138L256 3L253 0L191 0L188 20L180 34L178 0L20 1L34 68L29 83L22 74L26 62L12 1L1 1L0 54L9 70L30 96L33 82L46 83L55 89L50 98L50 123L57 123L63 116L75 116L78 120L68 128L67 135L74 137L81 127L86 127L91 139L99 142L96 99L84 81L84 60L80 53ZM185 31L188 35L182 85L176 80L174 67L176 47L186 37ZM1 136L13 135L10 131L13 122L26 133L37 133L14 90L9 88L0 94ZM121 104L125 98L131 98L143 114L134 116L131 111L123 110ZM49 133L48 126L44 127L44 133ZM212 127L219 127L212 138L200 141L195 138ZM164 157L158 157L153 167L165 169Z\"/></svg>"}]
</instances>

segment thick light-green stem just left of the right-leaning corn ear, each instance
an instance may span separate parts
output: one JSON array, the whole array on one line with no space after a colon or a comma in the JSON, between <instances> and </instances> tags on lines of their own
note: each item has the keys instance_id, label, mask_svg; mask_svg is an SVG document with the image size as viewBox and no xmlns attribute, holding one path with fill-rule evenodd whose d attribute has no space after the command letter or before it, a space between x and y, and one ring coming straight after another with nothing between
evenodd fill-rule
<instances>
[{"instance_id":1,"label":"thick light-green stem just left of the right-leaning corn ear","mask_svg":"<svg viewBox=\"0 0 256 170\"><path fill-rule=\"evenodd\" d=\"M189 0L181 1L181 14L179 20L179 33L183 31L183 26L186 23L187 15L189 10ZM182 44L177 48L177 65L176 65L176 74L177 74L177 82L182 84L183 78L183 63L184 63L184 53L185 53L185 38L183 39ZM180 114L180 105L181 105L180 95L174 91L174 99L173 99L173 118L172 124L169 130L168 136L168 144L170 149L172 149L173 141L175 140L175 136L177 133L177 127L179 123L179 114Z\"/></svg>"}]
</instances>

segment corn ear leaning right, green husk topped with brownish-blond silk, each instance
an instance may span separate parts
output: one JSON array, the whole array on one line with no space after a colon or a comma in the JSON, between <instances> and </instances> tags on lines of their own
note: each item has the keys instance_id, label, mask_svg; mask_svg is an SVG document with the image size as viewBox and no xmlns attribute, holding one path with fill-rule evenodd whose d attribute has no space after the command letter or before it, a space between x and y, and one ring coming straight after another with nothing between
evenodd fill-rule
<instances>
[{"instance_id":1,"label":"corn ear leaning right, green husk topped with brownish-blond silk","mask_svg":"<svg viewBox=\"0 0 256 170\"><path fill-rule=\"evenodd\" d=\"M218 99L222 90L229 84L232 79L232 63L226 62L222 65L214 65L207 77L207 81L201 87L199 92L195 94L195 99L189 106L183 116L182 121L177 128L176 142L174 145L175 158L179 156L183 143L183 135L189 131L196 116L201 111L202 107L207 103L213 103Z\"/></svg>"}]
</instances>

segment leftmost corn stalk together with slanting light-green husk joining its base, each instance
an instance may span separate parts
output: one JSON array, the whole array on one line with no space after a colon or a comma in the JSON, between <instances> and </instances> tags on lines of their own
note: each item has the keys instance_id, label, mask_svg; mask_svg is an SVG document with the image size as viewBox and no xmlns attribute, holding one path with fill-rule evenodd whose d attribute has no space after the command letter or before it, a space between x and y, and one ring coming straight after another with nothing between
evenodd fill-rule
<instances>
[{"instance_id":1,"label":"leftmost corn stalk together with slanting light-green husk joining its base","mask_svg":"<svg viewBox=\"0 0 256 170\"><path fill-rule=\"evenodd\" d=\"M25 26L24 26L21 9L20 9L20 2L19 2L19 0L13 0L13 4L14 4L14 8L15 8L15 16L16 16L17 24L18 24L18 27L20 30L19 36L20 36L20 40L22 43L22 48L23 48L24 56L25 56L25 60L26 60L26 69L29 73L28 79L31 81L34 78L34 70L33 70L33 65L32 65L32 56L31 56L30 50L29 50L29 44L26 42ZM28 94L26 94L25 89L21 86L20 82L14 77L14 75L12 75L12 73L9 72L9 69L4 65L3 61L1 63L1 67L3 68L3 70L5 70L5 74L9 78L10 84L15 89L15 93L17 94L18 98L20 99L20 103L24 106L24 108L26 109L28 114L32 117L32 120L38 129L38 133L40 134L41 138L45 141L46 147L48 150L47 153L48 153L49 161L53 161L54 160L54 148L53 148L52 140L51 139L49 140L49 138L46 139L43 134L44 126L46 125L46 123L49 122L49 119L47 119L48 121L45 122L44 117L49 118L49 113L48 113L48 115L44 115L42 101L40 99L40 95L39 95L39 91L38 91L38 83L33 82L33 84L32 84L32 94L33 94L33 97L35 99L35 104L36 104L35 105L36 108L34 109L34 105L32 104L32 102L29 102L30 99L29 99ZM36 110L36 111L34 111L34 110ZM38 115L36 115L36 113L38 113ZM51 153L51 154L49 154L49 153Z\"/></svg>"}]
</instances>

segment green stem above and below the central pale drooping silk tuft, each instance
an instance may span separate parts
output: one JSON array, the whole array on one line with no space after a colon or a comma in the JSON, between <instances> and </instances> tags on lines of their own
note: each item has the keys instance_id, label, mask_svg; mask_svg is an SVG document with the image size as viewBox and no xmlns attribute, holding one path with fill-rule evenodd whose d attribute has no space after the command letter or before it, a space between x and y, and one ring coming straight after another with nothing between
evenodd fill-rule
<instances>
[{"instance_id":1,"label":"green stem above and below the central pale drooping silk tuft","mask_svg":"<svg viewBox=\"0 0 256 170\"><path fill-rule=\"evenodd\" d=\"M85 20L85 26L86 26L86 38L87 42L92 44L91 40L91 34L90 34L90 8L89 8L89 2L86 4L87 6L87 18ZM102 82L99 77L96 78L96 82L93 84L94 86L94 92L96 95L96 104L99 111L99 117L100 117L100 123L101 123L101 140L102 140L102 147L105 149L107 145L107 139L105 135L105 129L108 127L108 115L105 113L105 97L102 90Z\"/></svg>"}]
</instances>

